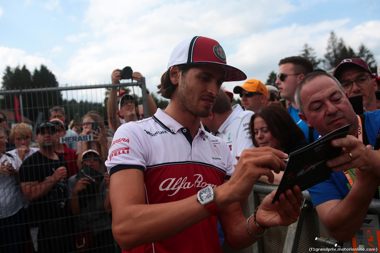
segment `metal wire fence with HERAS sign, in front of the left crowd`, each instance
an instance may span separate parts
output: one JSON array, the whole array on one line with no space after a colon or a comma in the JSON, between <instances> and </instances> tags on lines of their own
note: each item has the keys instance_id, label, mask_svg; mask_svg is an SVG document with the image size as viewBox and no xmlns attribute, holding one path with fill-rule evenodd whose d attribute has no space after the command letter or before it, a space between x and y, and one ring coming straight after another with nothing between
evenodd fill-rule
<instances>
[{"instance_id":1,"label":"metal wire fence with HERAS sign, in front of the left crowd","mask_svg":"<svg viewBox=\"0 0 380 253\"><path fill-rule=\"evenodd\" d=\"M147 117L144 78L0 91L0 252L121 251L104 165L112 142L106 89L120 86Z\"/></svg>"}]
</instances>

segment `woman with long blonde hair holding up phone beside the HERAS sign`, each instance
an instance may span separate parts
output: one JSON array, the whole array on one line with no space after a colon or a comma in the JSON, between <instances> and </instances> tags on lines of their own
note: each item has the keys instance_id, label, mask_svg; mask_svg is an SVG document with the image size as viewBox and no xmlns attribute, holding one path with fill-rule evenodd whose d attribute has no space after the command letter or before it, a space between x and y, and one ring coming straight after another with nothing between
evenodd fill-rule
<instances>
[{"instance_id":1,"label":"woman with long blonde hair holding up phone beside the HERAS sign","mask_svg":"<svg viewBox=\"0 0 380 253\"><path fill-rule=\"evenodd\" d=\"M78 154L78 167L80 168L80 161L82 160L82 153L86 150L96 150L100 154L101 168L100 172L105 172L104 162L107 160L108 150L111 147L112 138L105 132L104 121L98 113L87 113L82 120L82 132L79 135L92 134L92 141L78 142L76 145L76 152ZM92 122L98 124L97 129L92 129Z\"/></svg>"}]
</instances>

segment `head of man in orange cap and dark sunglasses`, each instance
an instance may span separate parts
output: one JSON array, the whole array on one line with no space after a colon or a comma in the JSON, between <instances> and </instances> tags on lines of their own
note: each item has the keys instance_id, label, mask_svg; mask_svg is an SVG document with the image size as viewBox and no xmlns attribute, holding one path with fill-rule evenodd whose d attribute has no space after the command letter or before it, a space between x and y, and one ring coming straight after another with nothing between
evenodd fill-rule
<instances>
[{"instance_id":1,"label":"head of man in orange cap and dark sunglasses","mask_svg":"<svg viewBox=\"0 0 380 253\"><path fill-rule=\"evenodd\" d=\"M257 112L263 108L268 90L265 85L256 79L249 79L243 86L236 86L234 93L241 97L241 106L245 110Z\"/></svg>"}]
</instances>

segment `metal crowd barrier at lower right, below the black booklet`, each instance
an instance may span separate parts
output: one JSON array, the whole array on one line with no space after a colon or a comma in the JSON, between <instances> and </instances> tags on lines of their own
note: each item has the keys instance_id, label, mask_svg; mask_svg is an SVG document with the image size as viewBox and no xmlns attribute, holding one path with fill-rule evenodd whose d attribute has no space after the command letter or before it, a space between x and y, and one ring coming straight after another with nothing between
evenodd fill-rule
<instances>
[{"instance_id":1,"label":"metal crowd barrier at lower right, below the black booklet","mask_svg":"<svg viewBox=\"0 0 380 253\"><path fill-rule=\"evenodd\" d=\"M255 207L265 196L276 189L277 185L257 182L249 198L240 203L245 217L253 214ZM302 194L302 215L296 223L269 228L255 244L241 251L234 251L223 244L223 253L304 253L310 252L310 248L329 248L331 251L334 251L334 248L344 248L347 249L345 252L353 253L352 250L348 250L353 247L351 241L340 243L328 234L313 207L309 192L305 190ZM380 215L380 199L372 199L368 212Z\"/></svg>"}]
</instances>

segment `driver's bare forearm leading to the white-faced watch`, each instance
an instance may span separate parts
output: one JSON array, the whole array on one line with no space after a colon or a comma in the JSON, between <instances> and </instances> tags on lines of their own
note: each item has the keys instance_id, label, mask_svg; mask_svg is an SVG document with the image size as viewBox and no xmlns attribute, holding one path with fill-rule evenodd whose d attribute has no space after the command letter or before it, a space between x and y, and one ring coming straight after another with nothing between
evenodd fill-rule
<instances>
[{"instance_id":1,"label":"driver's bare forearm leading to the white-faced watch","mask_svg":"<svg viewBox=\"0 0 380 253\"><path fill-rule=\"evenodd\" d=\"M122 210L111 203L112 232L125 251L173 237L210 216L195 195L176 202L125 206Z\"/></svg>"}]
</instances>

